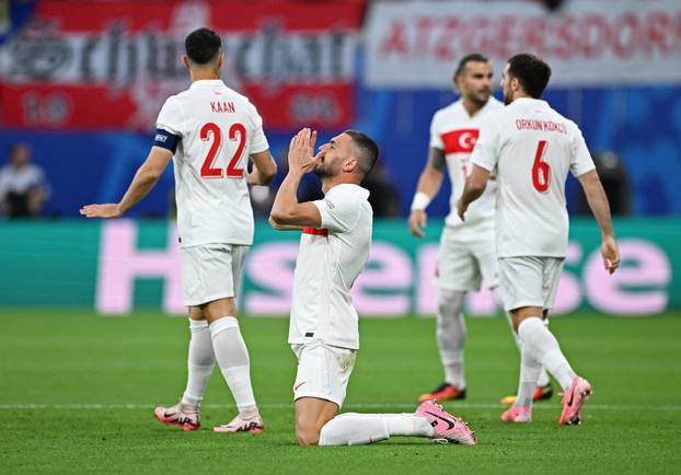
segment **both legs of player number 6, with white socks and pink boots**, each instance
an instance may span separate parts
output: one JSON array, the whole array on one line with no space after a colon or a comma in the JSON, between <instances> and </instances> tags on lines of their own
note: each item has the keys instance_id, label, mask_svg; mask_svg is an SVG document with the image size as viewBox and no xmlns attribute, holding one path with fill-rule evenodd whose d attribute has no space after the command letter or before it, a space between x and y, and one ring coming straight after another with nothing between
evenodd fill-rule
<instances>
[{"instance_id":1,"label":"both legs of player number 6, with white socks and pink boots","mask_svg":"<svg viewBox=\"0 0 681 475\"><path fill-rule=\"evenodd\" d=\"M527 351L528 356L531 357L523 358L523 362L533 359L535 364L529 364L528 368L521 366L518 401L516 405L511 406L509 412L516 407L530 407L531 410L532 384L536 384L536 381L532 381L532 379L534 374L538 375L538 372L533 373L533 370L535 370L536 364L542 364L558 380L563 391L566 392L566 397L563 398L563 414L559 422L562 425L579 424L581 418L581 405L591 394L591 386L588 381L579 378L575 373L561 351L558 341L549 331L547 326L544 325L543 320L546 317L546 312L539 306L523 306L512 310L510 314L513 320L513 327L518 332L522 345L522 352L524 354ZM527 410L524 412L527 413ZM505 413L504 416L506 416L507 413Z\"/></svg>"}]
</instances>

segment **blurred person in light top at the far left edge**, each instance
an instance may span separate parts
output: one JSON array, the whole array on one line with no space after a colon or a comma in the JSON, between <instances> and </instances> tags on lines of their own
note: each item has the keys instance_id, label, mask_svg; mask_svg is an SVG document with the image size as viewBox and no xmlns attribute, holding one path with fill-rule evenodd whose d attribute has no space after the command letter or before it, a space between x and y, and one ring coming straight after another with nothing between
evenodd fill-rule
<instances>
[{"instance_id":1,"label":"blurred person in light top at the far left edge","mask_svg":"<svg viewBox=\"0 0 681 475\"><path fill-rule=\"evenodd\" d=\"M0 210L10 219L36 218L48 196L43 169L31 163L31 149L25 143L14 143L7 164L0 169Z\"/></svg>"}]
</instances>

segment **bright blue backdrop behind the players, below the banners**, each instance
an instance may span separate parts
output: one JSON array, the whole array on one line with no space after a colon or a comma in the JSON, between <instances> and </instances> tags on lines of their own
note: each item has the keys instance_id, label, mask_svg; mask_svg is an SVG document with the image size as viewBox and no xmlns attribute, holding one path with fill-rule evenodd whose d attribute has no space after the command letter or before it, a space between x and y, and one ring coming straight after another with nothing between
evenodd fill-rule
<instances>
[{"instance_id":1,"label":"bright blue backdrop behind the players, below the banners","mask_svg":"<svg viewBox=\"0 0 681 475\"><path fill-rule=\"evenodd\" d=\"M13 12L28 16L30 3ZM0 40L3 39L0 37ZM354 128L374 137L382 149L389 176L400 192L403 215L426 159L432 113L454 99L449 84L435 90L372 90L362 83L363 54L357 55ZM452 65L452 68L454 65ZM497 91L497 95L499 92ZM681 88L678 84L640 88L553 89L545 99L581 127L592 152L611 150L627 169L635 216L681 213ZM267 118L265 117L265 126ZM266 132L277 158L292 130ZM322 139L337 130L323 130ZM0 128L0 151L18 141L34 150L53 195L45 216L77 217L81 205L119 199L137 166L146 158L151 135L125 130L37 131ZM0 159L4 162L4 158ZM169 170L152 194L134 211L139 217L164 217L173 186ZM447 185L449 186L449 185ZM574 208L575 183L568 184L568 207ZM429 211L447 213L448 189Z\"/></svg>"}]
</instances>

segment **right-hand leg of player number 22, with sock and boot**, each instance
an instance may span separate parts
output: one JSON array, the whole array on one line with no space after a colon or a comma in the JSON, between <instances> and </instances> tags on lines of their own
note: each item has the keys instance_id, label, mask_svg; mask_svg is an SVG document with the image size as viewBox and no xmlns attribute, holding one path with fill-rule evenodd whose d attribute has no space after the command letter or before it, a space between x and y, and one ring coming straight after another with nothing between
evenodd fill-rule
<instances>
[{"instance_id":1,"label":"right-hand leg of player number 22, with sock and boot","mask_svg":"<svg viewBox=\"0 0 681 475\"><path fill-rule=\"evenodd\" d=\"M213 430L216 432L261 432L263 420L253 395L251 361L239 329L234 299L218 299L201 305L201 310L208 321L216 361L239 409L239 415L234 419Z\"/></svg>"}]
</instances>

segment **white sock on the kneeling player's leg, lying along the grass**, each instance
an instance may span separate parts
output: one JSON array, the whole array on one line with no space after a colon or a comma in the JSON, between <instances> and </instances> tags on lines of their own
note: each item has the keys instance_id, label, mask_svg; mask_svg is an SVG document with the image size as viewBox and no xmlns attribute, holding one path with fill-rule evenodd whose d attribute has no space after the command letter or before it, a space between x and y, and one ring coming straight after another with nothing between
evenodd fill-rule
<instances>
[{"instance_id":1,"label":"white sock on the kneeling player's leg, lying along the grass","mask_svg":"<svg viewBox=\"0 0 681 475\"><path fill-rule=\"evenodd\" d=\"M432 437L430 422L413 414L340 414L322 427L320 445L363 445L390 436Z\"/></svg>"}]
</instances>

